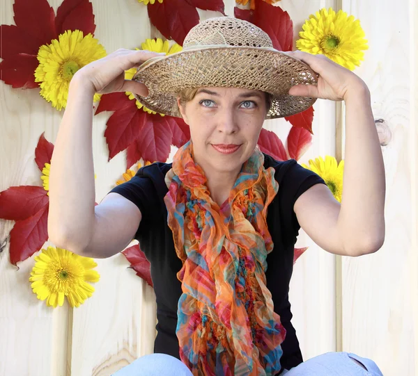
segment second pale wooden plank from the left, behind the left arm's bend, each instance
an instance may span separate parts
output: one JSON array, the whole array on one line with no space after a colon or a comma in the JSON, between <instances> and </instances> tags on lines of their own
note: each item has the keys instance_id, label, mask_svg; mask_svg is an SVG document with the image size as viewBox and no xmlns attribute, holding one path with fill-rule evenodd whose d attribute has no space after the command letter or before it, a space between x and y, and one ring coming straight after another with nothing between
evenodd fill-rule
<instances>
[{"instance_id":1,"label":"second pale wooden plank from the left, behind the left arm's bend","mask_svg":"<svg viewBox=\"0 0 418 376\"><path fill-rule=\"evenodd\" d=\"M108 54L119 48L141 48L141 43L150 38L150 21L144 4L91 2L97 25L95 37ZM107 162L108 149L103 135L110 115L101 113L93 119L97 202L125 172L125 152ZM96 261L100 272L96 291L73 312L71 375L111 375L137 357L153 352L156 324L153 289L128 269L123 254Z\"/></svg>"}]
</instances>

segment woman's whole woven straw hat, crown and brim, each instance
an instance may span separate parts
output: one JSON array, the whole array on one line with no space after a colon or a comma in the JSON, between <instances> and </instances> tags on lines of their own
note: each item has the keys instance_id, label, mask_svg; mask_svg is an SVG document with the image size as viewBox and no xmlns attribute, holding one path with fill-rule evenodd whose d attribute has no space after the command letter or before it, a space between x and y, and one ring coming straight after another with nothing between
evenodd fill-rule
<instances>
[{"instance_id":1,"label":"woman's whole woven straw hat, crown and brim","mask_svg":"<svg viewBox=\"0 0 418 376\"><path fill-rule=\"evenodd\" d=\"M273 48L261 28L233 17L215 17L197 24L183 42L183 50L143 63L133 80L144 83L148 97L135 95L150 110L179 116L178 93L185 88L233 87L261 90L272 95L266 119L300 113L316 98L293 97L298 83L316 85L311 68Z\"/></svg>"}]
</instances>

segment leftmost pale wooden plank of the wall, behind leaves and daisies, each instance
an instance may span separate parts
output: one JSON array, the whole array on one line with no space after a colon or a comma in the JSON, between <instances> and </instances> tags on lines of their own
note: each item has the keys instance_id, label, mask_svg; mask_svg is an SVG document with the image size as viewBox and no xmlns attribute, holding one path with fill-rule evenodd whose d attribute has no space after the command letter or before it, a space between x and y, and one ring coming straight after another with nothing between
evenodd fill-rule
<instances>
[{"instance_id":1,"label":"leftmost pale wooden plank of the wall, behind leaves and daisies","mask_svg":"<svg viewBox=\"0 0 418 376\"><path fill-rule=\"evenodd\" d=\"M12 23L10 9L4 3L1 7L1 24ZM42 186L34 152L40 134L54 116L51 111L36 111L44 104L36 90L23 94L1 83L0 98L0 191L10 186ZM52 363L52 322L56 313L31 290L33 258L18 263L19 270L10 264L13 224L0 220L0 244L5 245L0 253L0 375L45 376Z\"/></svg>"}]
</instances>

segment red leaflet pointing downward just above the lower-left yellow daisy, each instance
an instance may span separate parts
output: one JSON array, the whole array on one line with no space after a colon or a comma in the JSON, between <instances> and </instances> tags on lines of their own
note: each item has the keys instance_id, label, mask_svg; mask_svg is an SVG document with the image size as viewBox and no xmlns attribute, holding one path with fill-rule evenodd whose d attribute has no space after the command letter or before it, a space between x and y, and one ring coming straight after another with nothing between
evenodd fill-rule
<instances>
[{"instance_id":1,"label":"red leaflet pointing downward just above the lower-left yellow daisy","mask_svg":"<svg viewBox=\"0 0 418 376\"><path fill-rule=\"evenodd\" d=\"M10 231L10 263L13 265L32 256L48 240L48 209L49 204L13 226Z\"/></svg>"}]
</instances>

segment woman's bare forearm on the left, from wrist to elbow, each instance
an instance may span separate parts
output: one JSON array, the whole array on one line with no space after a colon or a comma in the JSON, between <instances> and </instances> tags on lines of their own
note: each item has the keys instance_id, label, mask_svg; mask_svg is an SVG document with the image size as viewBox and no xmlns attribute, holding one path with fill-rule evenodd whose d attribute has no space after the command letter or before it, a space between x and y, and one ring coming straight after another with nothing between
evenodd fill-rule
<instances>
[{"instance_id":1,"label":"woman's bare forearm on the left, from wrist to elbow","mask_svg":"<svg viewBox=\"0 0 418 376\"><path fill-rule=\"evenodd\" d=\"M92 85L75 76L56 137L49 175L49 238L79 253L88 245L95 220Z\"/></svg>"}]
</instances>

